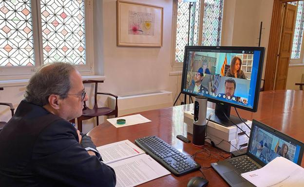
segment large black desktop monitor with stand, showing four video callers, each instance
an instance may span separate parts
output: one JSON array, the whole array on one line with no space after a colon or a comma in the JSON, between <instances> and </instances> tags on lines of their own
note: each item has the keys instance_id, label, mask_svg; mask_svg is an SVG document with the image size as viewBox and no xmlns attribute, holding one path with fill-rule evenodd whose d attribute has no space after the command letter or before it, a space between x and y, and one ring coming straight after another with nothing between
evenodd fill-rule
<instances>
[{"instance_id":1,"label":"large black desktop monitor with stand, showing four video callers","mask_svg":"<svg viewBox=\"0 0 304 187\"><path fill-rule=\"evenodd\" d=\"M181 93L215 102L211 121L241 123L230 107L257 111L264 52L264 47L186 46Z\"/></svg>"}]
</instances>

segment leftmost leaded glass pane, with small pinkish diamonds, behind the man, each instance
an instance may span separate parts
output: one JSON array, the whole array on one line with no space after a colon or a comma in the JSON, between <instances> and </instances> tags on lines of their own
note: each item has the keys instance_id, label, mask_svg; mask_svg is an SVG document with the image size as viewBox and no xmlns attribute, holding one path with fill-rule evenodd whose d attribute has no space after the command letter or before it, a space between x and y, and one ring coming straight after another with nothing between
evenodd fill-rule
<instances>
[{"instance_id":1,"label":"leftmost leaded glass pane, with small pinkish diamonds, behind the man","mask_svg":"<svg viewBox=\"0 0 304 187\"><path fill-rule=\"evenodd\" d=\"M31 0L0 2L0 66L34 66Z\"/></svg>"}]
</instances>

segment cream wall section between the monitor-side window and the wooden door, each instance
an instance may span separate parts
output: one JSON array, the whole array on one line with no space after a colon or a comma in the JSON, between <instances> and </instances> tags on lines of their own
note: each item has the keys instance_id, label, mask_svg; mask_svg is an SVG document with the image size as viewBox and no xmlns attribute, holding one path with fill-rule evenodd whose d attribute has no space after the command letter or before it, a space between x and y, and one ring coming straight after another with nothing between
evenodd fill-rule
<instances>
[{"instance_id":1,"label":"cream wall section between the monitor-side window and the wooden door","mask_svg":"<svg viewBox=\"0 0 304 187\"><path fill-rule=\"evenodd\" d=\"M226 0L224 5L222 45L258 46L263 22L261 47L265 47L265 74L273 0Z\"/></svg>"}]
</instances>

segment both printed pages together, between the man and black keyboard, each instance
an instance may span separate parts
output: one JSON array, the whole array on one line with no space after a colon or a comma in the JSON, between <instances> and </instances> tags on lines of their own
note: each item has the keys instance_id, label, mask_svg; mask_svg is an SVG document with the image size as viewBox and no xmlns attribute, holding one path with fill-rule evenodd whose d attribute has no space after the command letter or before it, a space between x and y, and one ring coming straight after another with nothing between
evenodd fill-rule
<instances>
[{"instance_id":1,"label":"both printed pages together, between the man and black keyboard","mask_svg":"<svg viewBox=\"0 0 304 187\"><path fill-rule=\"evenodd\" d=\"M129 140L97 147L103 162L116 174L116 187L134 187L170 174Z\"/></svg>"}]
</instances>

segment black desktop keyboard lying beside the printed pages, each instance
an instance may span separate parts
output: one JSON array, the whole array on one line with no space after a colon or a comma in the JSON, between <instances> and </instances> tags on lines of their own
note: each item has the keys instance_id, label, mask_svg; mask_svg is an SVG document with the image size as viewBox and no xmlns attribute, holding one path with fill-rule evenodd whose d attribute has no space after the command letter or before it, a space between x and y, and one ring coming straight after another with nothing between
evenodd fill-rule
<instances>
[{"instance_id":1,"label":"black desktop keyboard lying beside the printed pages","mask_svg":"<svg viewBox=\"0 0 304 187\"><path fill-rule=\"evenodd\" d=\"M135 143L176 176L201 168L193 159L177 151L157 136L138 138Z\"/></svg>"}]
</instances>

